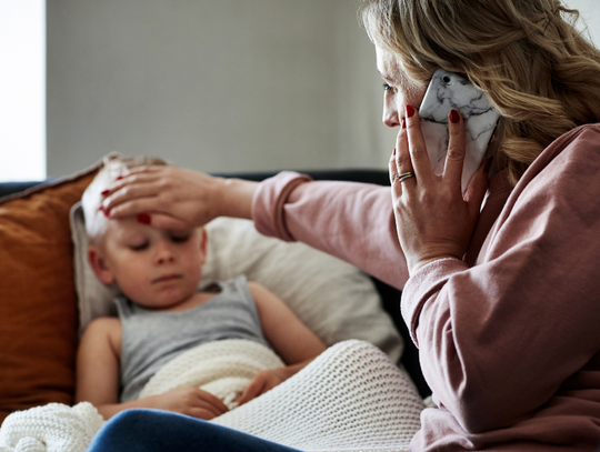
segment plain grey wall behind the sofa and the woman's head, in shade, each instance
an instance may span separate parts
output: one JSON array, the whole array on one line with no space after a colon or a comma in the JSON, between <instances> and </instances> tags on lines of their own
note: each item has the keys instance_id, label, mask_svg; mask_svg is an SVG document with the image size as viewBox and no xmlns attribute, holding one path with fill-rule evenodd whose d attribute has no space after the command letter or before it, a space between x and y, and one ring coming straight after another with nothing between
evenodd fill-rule
<instances>
[{"instance_id":1,"label":"plain grey wall behind the sofa and the woman's head, in shade","mask_svg":"<svg viewBox=\"0 0 600 452\"><path fill-rule=\"evenodd\" d=\"M47 0L48 174L117 150L203 171L387 168L350 0ZM598 0L580 8L600 41Z\"/></svg>"}]
</instances>

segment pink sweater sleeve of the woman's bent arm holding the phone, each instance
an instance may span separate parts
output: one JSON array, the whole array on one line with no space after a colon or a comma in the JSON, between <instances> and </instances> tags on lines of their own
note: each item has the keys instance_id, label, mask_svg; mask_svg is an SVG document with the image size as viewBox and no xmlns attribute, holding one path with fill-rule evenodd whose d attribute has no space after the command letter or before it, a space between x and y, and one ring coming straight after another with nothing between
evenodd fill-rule
<instances>
[{"instance_id":1,"label":"pink sweater sleeve of the woman's bent arm holding the phone","mask_svg":"<svg viewBox=\"0 0 600 452\"><path fill-rule=\"evenodd\" d=\"M557 141L514 188L482 264L431 262L404 287L426 380L471 433L528 419L600 350L600 128Z\"/></svg>"}]
</instances>

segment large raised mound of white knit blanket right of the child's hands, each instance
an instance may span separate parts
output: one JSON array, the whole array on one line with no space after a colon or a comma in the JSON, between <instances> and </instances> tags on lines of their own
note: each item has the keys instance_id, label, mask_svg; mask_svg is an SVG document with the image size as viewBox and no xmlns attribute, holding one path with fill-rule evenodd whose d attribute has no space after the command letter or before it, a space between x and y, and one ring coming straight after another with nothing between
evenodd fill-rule
<instances>
[{"instance_id":1,"label":"large raised mound of white knit blanket right of the child's hands","mask_svg":"<svg viewBox=\"0 0 600 452\"><path fill-rule=\"evenodd\" d=\"M340 342L258 399L212 420L302 451L408 451L423 401L377 346Z\"/></svg>"}]
</instances>

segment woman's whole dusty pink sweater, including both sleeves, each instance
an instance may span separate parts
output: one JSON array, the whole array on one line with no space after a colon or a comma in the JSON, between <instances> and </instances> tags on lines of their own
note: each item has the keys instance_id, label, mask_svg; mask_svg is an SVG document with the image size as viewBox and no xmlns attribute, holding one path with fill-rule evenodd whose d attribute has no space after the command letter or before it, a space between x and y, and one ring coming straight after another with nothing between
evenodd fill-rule
<instances>
[{"instance_id":1,"label":"woman's whole dusty pink sweater, including both sleeves","mask_svg":"<svg viewBox=\"0 0 600 452\"><path fill-rule=\"evenodd\" d=\"M600 124L548 147L511 191L490 180L464 259L410 279L389 188L281 173L257 228L403 290L401 311L440 409L414 451L596 451L600 445Z\"/></svg>"}]
</instances>

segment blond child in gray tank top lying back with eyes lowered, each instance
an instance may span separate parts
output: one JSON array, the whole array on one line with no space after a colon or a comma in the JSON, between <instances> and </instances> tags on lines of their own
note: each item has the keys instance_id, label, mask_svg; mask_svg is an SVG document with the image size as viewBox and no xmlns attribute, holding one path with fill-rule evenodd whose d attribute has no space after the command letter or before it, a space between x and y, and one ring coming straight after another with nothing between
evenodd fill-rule
<instances>
[{"instance_id":1,"label":"blond child in gray tank top lying back with eyes lowered","mask_svg":"<svg viewBox=\"0 0 600 452\"><path fill-rule=\"evenodd\" d=\"M278 385L324 351L323 343L260 284L240 277L217 284L217 292L198 291L207 258L204 229L158 229L143 214L108 220L101 210L102 192L126 169L123 160L107 160L82 198L88 260L98 279L118 284L124 297L116 300L119 318L96 319L81 338L77 402L91 402L104 419L129 408L154 408L209 420L228 408L199 388L137 396L162 364L209 341L249 339L271 346L288 364L259 372L239 404Z\"/></svg>"}]
</instances>

